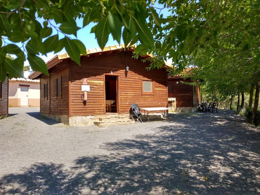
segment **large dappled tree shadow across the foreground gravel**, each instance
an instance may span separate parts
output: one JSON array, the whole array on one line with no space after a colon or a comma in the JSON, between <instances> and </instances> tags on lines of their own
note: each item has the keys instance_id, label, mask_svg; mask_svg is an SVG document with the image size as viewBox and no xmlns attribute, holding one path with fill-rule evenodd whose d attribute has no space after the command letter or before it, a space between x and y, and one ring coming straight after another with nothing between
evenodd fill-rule
<instances>
[{"instance_id":1,"label":"large dappled tree shadow across the foreground gravel","mask_svg":"<svg viewBox=\"0 0 260 195\"><path fill-rule=\"evenodd\" d=\"M154 134L107 142L100 147L108 155L70 168L32 165L2 177L0 193L259 194L260 131L232 114L208 116L174 116Z\"/></svg>"}]
</instances>

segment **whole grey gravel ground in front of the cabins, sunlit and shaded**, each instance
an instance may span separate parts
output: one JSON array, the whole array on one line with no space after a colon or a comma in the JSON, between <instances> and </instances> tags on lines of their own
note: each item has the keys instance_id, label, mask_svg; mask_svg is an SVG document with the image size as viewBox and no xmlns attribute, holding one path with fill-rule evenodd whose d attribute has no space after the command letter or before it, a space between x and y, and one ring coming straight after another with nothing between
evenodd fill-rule
<instances>
[{"instance_id":1,"label":"whole grey gravel ground in front of the cabins, sunlit and shaded","mask_svg":"<svg viewBox=\"0 0 260 195\"><path fill-rule=\"evenodd\" d=\"M260 129L230 110L69 127L0 120L0 194L260 194Z\"/></svg>"}]
</instances>

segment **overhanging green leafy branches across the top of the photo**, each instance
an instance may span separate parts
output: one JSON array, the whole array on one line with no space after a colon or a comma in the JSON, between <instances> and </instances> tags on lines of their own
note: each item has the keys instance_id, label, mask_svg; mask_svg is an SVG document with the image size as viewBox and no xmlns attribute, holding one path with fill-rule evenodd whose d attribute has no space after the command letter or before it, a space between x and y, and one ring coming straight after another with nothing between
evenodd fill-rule
<instances>
[{"instance_id":1,"label":"overhanging green leafy branches across the top of the photo","mask_svg":"<svg viewBox=\"0 0 260 195\"><path fill-rule=\"evenodd\" d=\"M33 70L48 75L40 54L59 52L64 47L71 59L80 64L80 54L86 55L84 44L75 38L80 28L95 22L91 32L104 48L111 33L114 40L135 44L136 55L154 54L151 68L162 67L172 59L172 73L182 70L187 56L196 56L219 48L219 41L237 37L234 43L241 51L250 51L253 67L259 66L260 2L258 0L159 0L170 13L163 18L154 1L131 0L6 0L0 3L0 80L6 73L21 77L27 59ZM42 18L41 24L37 21ZM82 26L75 20L83 18ZM53 22L54 21L54 22ZM55 33L53 34L53 30ZM60 38L57 32L63 33ZM239 37L239 34L243 36ZM240 38L238 40L238 37ZM18 47L18 43L22 43ZM14 54L10 60L6 54Z\"/></svg>"}]
</instances>

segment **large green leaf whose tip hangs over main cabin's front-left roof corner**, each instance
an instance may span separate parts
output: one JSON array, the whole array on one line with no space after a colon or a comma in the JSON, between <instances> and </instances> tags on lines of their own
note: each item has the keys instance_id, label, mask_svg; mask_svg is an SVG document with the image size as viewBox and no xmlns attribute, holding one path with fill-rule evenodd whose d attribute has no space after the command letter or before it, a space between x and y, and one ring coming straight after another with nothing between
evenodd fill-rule
<instances>
[{"instance_id":1,"label":"large green leaf whose tip hangs over main cabin's front-left roof corner","mask_svg":"<svg viewBox=\"0 0 260 195\"><path fill-rule=\"evenodd\" d=\"M80 50L77 44L73 40L70 40L68 37L64 38L64 43L65 43L65 49L68 52L69 57L74 62L80 65Z\"/></svg>"}]
</instances>

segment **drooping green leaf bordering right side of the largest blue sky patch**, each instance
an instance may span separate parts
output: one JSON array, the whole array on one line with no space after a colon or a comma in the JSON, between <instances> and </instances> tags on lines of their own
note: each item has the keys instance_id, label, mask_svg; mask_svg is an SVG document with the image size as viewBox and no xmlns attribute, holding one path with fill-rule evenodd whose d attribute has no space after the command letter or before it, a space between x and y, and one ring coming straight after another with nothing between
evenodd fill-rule
<instances>
[{"instance_id":1,"label":"drooping green leaf bordering right side of the largest blue sky patch","mask_svg":"<svg viewBox=\"0 0 260 195\"><path fill-rule=\"evenodd\" d=\"M101 49L104 49L109 35L108 29L108 16L103 18L95 28L95 35L97 39L97 43Z\"/></svg>"}]
</instances>

